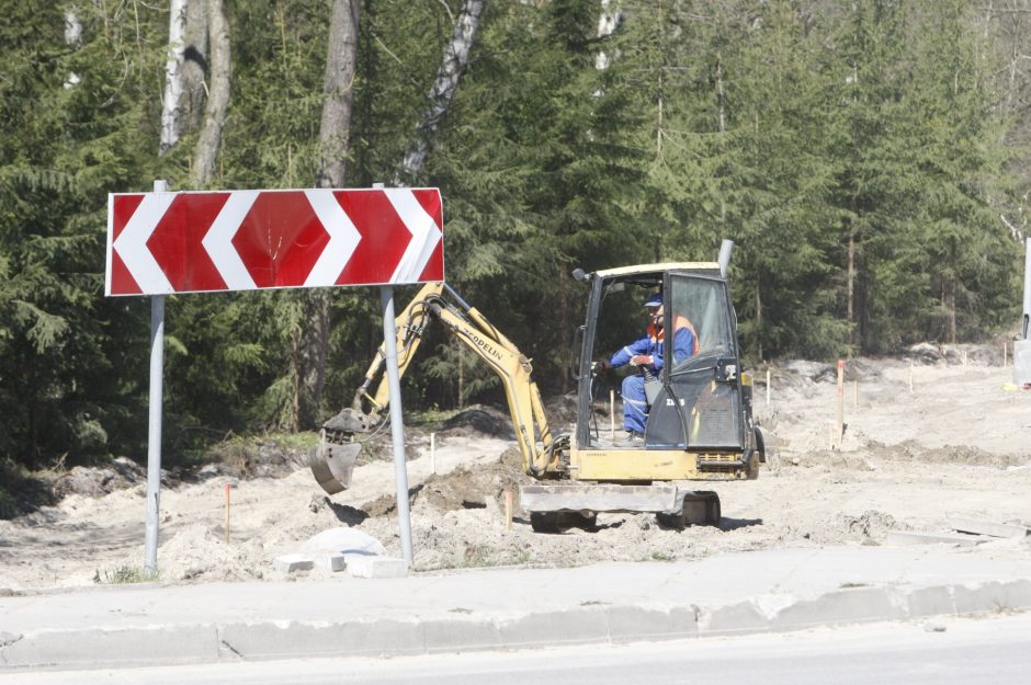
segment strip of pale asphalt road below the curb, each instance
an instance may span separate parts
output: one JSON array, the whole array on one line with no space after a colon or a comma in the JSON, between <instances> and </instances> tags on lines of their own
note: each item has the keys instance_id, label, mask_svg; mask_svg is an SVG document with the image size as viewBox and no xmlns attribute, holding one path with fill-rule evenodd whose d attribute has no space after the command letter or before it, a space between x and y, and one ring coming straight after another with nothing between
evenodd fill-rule
<instances>
[{"instance_id":1,"label":"strip of pale asphalt road below the curb","mask_svg":"<svg viewBox=\"0 0 1031 685\"><path fill-rule=\"evenodd\" d=\"M1031 614L623 647L0 675L4 685L1026 685L1029 682Z\"/></svg>"}]
</instances>

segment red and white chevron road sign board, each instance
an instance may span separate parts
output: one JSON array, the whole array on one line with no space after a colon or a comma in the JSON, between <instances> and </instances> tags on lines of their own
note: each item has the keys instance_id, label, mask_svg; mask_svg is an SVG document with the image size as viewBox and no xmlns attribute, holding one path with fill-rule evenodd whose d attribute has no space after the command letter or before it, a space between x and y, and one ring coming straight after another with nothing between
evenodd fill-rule
<instances>
[{"instance_id":1,"label":"red and white chevron road sign board","mask_svg":"<svg viewBox=\"0 0 1031 685\"><path fill-rule=\"evenodd\" d=\"M444 279L438 189L117 193L107 295Z\"/></svg>"}]
</instances>

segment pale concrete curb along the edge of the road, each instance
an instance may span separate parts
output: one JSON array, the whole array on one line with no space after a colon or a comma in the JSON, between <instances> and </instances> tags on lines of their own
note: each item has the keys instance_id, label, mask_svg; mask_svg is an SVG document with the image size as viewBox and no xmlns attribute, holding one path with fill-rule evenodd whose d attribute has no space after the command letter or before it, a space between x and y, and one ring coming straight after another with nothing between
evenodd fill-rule
<instances>
[{"instance_id":1,"label":"pale concrete curb along the edge of the road","mask_svg":"<svg viewBox=\"0 0 1031 685\"><path fill-rule=\"evenodd\" d=\"M1031 580L842 587L711 607L584 603L560 610L435 613L410 620L254 620L0 632L0 673L625 643L1031 609Z\"/></svg>"}]
</instances>

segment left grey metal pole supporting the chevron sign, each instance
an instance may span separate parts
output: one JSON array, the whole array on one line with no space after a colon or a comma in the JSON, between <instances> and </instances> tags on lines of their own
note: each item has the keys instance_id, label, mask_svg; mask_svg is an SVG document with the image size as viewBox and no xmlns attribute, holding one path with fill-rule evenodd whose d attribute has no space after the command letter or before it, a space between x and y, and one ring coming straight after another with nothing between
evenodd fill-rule
<instances>
[{"instance_id":1,"label":"left grey metal pole supporting the chevron sign","mask_svg":"<svg viewBox=\"0 0 1031 685\"><path fill-rule=\"evenodd\" d=\"M155 181L155 193L168 192L168 181ZM150 419L147 432L147 532L144 571L158 571L158 518L161 490L161 410L165 391L165 295L150 297Z\"/></svg>"}]
</instances>

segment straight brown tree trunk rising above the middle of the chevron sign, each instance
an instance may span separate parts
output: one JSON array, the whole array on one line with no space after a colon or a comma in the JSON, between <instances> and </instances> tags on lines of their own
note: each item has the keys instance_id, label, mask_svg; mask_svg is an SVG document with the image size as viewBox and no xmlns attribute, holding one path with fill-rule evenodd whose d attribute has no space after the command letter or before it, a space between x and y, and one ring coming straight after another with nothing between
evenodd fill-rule
<instances>
[{"instance_id":1,"label":"straight brown tree trunk rising above the middle of the chevron sign","mask_svg":"<svg viewBox=\"0 0 1031 685\"><path fill-rule=\"evenodd\" d=\"M342 187L348 170L360 4L361 0L333 0L326 56L326 102L319 127L318 187Z\"/></svg>"}]
</instances>

